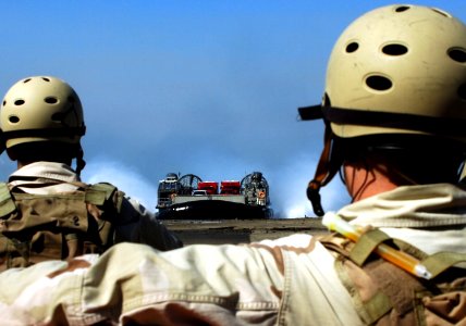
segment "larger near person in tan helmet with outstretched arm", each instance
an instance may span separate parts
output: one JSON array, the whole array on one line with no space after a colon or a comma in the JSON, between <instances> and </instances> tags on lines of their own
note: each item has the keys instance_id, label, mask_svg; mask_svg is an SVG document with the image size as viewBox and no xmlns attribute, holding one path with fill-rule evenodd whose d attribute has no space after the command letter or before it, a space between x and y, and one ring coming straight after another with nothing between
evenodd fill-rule
<instances>
[{"instance_id":1,"label":"larger near person in tan helmet with outstretched arm","mask_svg":"<svg viewBox=\"0 0 466 326\"><path fill-rule=\"evenodd\" d=\"M308 196L343 166L361 233L293 235L159 252L122 243L99 259L0 275L0 312L17 324L451 325L466 319L466 26L449 13L390 5L356 20L331 54L326 147ZM364 234L363 234L364 231ZM390 246L422 279L373 254ZM13 286L12 286L13 285ZM7 290L8 289L8 290Z\"/></svg>"}]
</instances>

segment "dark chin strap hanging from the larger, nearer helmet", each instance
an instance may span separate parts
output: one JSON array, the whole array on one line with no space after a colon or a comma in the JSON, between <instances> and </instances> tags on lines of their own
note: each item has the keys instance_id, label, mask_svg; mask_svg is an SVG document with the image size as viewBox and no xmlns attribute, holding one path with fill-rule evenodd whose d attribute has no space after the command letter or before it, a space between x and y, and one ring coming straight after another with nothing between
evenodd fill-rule
<instances>
[{"instance_id":1,"label":"dark chin strap hanging from the larger, nearer helmet","mask_svg":"<svg viewBox=\"0 0 466 326\"><path fill-rule=\"evenodd\" d=\"M324 134L324 146L322 153L320 154L319 163L317 164L316 173L314 179L309 181L306 190L307 198L312 204L314 213L317 216L323 216L324 211L322 209L321 199L320 199L320 188L326 186L336 172L340 168L341 164L332 164L331 162L331 152L332 152L332 137L333 133L330 126L326 126Z\"/></svg>"}]
</instances>

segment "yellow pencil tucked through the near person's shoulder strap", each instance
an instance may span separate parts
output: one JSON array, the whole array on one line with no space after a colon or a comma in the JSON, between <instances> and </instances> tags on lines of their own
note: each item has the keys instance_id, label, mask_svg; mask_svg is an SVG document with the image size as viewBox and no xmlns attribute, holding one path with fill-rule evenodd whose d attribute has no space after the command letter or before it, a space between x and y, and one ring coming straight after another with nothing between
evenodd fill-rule
<instances>
[{"instance_id":1,"label":"yellow pencil tucked through the near person's shoulder strap","mask_svg":"<svg viewBox=\"0 0 466 326\"><path fill-rule=\"evenodd\" d=\"M326 213L322 218L322 224L329 229L338 231L339 234L348 238L353 242L357 242L359 240L359 237L363 235L360 230L355 228L353 225L351 225L333 212ZM416 276L426 279L430 279L432 277L432 274L427 271L426 266L424 266L417 259L403 251L396 250L385 243L380 243L375 249L375 252L384 260Z\"/></svg>"}]
</instances>

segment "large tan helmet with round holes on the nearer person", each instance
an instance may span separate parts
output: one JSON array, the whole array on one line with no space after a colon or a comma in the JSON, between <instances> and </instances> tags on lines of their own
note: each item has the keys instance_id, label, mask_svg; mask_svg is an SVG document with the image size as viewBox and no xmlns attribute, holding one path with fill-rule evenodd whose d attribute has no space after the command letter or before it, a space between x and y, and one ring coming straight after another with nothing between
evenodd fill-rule
<instances>
[{"instance_id":1,"label":"large tan helmet with round holes on the nearer person","mask_svg":"<svg viewBox=\"0 0 466 326\"><path fill-rule=\"evenodd\" d=\"M466 26L419 5L366 13L333 48L322 104L299 108L299 114L330 125L308 188L316 202L341 165L331 162L335 138L410 134L466 143Z\"/></svg>"}]
</instances>

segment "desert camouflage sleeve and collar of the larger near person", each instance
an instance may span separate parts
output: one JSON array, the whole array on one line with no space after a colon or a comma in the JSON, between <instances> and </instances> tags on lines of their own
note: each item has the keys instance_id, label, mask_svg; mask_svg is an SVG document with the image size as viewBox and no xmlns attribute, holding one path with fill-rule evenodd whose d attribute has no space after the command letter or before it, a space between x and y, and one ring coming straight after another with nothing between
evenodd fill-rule
<instances>
[{"instance_id":1,"label":"desert camouflage sleeve and collar of the larger near person","mask_svg":"<svg viewBox=\"0 0 466 326\"><path fill-rule=\"evenodd\" d=\"M339 213L427 253L465 253L465 200L453 185L400 187ZM122 243L0 274L0 315L17 325L361 325L333 264L308 235L167 252Z\"/></svg>"}]
</instances>

